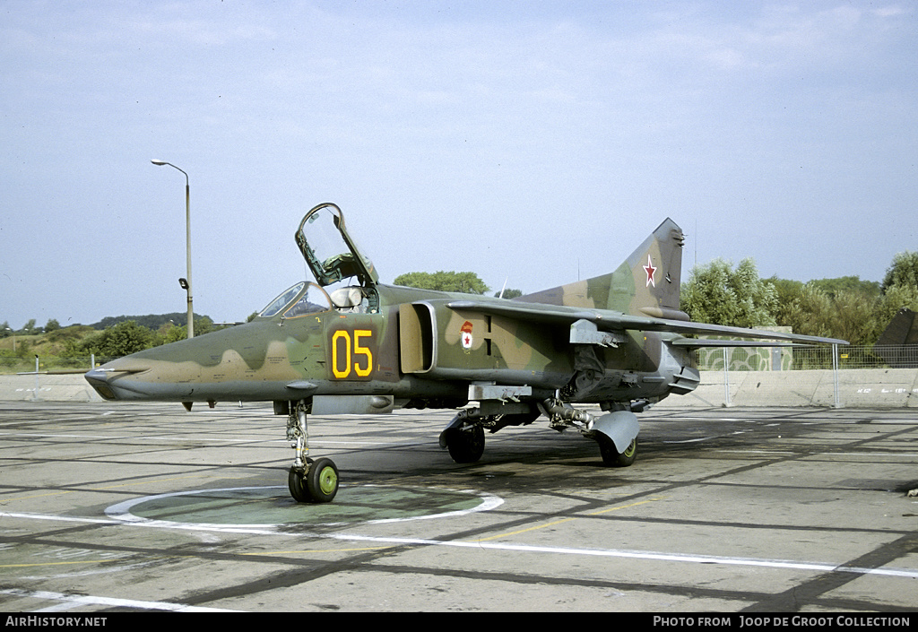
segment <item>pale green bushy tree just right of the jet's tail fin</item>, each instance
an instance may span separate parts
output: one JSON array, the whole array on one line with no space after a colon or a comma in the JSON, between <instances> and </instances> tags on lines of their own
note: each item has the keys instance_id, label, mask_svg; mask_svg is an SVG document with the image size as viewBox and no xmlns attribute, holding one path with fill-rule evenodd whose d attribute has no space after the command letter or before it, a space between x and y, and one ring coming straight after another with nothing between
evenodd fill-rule
<instances>
[{"instance_id":1,"label":"pale green bushy tree just right of the jet's tail fin","mask_svg":"<svg viewBox=\"0 0 918 632\"><path fill-rule=\"evenodd\" d=\"M756 264L744 259L733 265L715 259L692 269L682 286L682 310L691 320L732 327L767 327L777 324L775 287L759 278Z\"/></svg>"}]
</instances>

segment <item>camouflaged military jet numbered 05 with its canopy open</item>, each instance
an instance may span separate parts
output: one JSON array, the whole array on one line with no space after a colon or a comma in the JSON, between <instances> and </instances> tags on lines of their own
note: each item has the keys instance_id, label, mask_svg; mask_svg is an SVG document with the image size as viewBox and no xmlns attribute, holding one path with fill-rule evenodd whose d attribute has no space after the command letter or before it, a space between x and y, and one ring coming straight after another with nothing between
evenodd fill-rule
<instances>
[{"instance_id":1,"label":"camouflaged military jet numbered 05 with its canopy open","mask_svg":"<svg viewBox=\"0 0 918 632\"><path fill-rule=\"evenodd\" d=\"M440 435L457 463L482 456L486 430L544 416L595 440L604 463L629 466L635 413L698 386L693 349L846 344L690 322L679 310L684 236L668 219L614 272L511 300L379 283L334 204L309 210L295 238L315 283L285 290L252 322L85 377L106 400L179 401L189 411L194 402L273 401L296 451L288 486L297 502L330 502L338 491L335 464L309 457L310 414L457 409ZM689 337L698 334L752 340Z\"/></svg>"}]
</instances>

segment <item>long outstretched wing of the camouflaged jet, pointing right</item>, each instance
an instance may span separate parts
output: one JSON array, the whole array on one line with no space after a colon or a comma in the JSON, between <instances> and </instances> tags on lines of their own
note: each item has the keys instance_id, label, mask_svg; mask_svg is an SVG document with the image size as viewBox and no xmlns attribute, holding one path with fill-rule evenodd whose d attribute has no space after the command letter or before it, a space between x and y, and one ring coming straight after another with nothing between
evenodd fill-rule
<instances>
[{"instance_id":1,"label":"long outstretched wing of the camouflaged jet, pointing right","mask_svg":"<svg viewBox=\"0 0 918 632\"><path fill-rule=\"evenodd\" d=\"M556 305L543 305L539 303L518 303L512 300L500 302L489 300L453 300L447 303L451 310L469 310L496 316L518 318L531 322L574 323L588 321L596 325L600 331L621 332L634 330L641 332L667 332L680 335L718 335L735 336L738 338L752 338L753 341L736 340L705 340L699 338L682 338L672 344L683 347L699 348L705 346L774 346L786 344L848 344L845 340L836 338L823 338L820 336L802 335L800 333L769 332L764 329L745 329L744 327L727 327L713 325L705 322L674 321L664 318L651 318L649 316L634 316L610 310L588 310L581 308L565 308ZM784 341L782 343L768 343L757 341Z\"/></svg>"}]
</instances>

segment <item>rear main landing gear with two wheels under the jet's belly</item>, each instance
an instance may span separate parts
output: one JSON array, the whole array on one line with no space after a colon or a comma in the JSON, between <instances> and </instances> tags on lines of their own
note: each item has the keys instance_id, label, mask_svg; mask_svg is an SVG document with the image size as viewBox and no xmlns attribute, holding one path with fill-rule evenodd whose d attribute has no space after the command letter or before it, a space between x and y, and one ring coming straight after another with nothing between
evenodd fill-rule
<instances>
[{"instance_id":1,"label":"rear main landing gear with two wheels under the jet's belly","mask_svg":"<svg viewBox=\"0 0 918 632\"><path fill-rule=\"evenodd\" d=\"M602 462L609 467L627 468L637 457L638 422L633 412L617 410L596 416L554 399L543 401L531 414L486 414L476 408L461 411L440 434L440 446L449 450L456 463L475 463L485 451L485 428L496 433L508 425L532 423L540 413L548 417L554 430L573 428L596 441Z\"/></svg>"}]
</instances>

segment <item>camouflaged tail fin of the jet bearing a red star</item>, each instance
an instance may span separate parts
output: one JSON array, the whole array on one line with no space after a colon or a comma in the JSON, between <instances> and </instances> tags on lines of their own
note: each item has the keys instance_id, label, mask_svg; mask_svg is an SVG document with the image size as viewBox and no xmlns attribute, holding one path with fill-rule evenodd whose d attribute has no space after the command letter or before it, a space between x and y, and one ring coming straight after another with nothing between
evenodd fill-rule
<instances>
[{"instance_id":1,"label":"camouflaged tail fin of the jet bearing a red star","mask_svg":"<svg viewBox=\"0 0 918 632\"><path fill-rule=\"evenodd\" d=\"M514 300L688 321L679 310L684 242L682 229L667 218L615 272Z\"/></svg>"}]
</instances>

